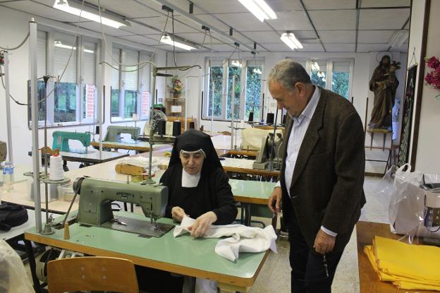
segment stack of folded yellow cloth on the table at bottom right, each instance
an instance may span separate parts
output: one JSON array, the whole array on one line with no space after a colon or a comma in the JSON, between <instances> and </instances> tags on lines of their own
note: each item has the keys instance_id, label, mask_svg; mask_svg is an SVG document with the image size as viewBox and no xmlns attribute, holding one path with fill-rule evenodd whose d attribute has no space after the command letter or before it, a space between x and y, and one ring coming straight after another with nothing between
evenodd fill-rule
<instances>
[{"instance_id":1,"label":"stack of folded yellow cloth on the table at bottom right","mask_svg":"<svg viewBox=\"0 0 440 293\"><path fill-rule=\"evenodd\" d=\"M399 289L440 291L440 248L374 237L364 247L379 279Z\"/></svg>"}]
</instances>

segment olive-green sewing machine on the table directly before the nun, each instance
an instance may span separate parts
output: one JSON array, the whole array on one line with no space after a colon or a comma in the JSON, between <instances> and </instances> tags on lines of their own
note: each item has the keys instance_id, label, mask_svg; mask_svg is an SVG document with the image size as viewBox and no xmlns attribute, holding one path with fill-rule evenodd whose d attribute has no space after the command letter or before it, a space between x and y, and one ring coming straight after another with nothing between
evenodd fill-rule
<instances>
[{"instance_id":1,"label":"olive-green sewing machine on the table directly before the nun","mask_svg":"<svg viewBox=\"0 0 440 293\"><path fill-rule=\"evenodd\" d=\"M156 222L165 215L168 203L166 186L79 177L73 183L73 191L80 195L78 222L82 225L116 229L143 237L161 237L173 228L173 225ZM130 217L114 217L112 201L140 205L150 222Z\"/></svg>"}]
</instances>

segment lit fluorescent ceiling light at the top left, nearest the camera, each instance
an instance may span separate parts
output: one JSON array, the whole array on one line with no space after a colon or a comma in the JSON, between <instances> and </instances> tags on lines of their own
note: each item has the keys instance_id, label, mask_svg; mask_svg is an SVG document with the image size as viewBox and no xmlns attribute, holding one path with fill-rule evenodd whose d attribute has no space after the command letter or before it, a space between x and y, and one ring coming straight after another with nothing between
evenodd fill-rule
<instances>
[{"instance_id":1,"label":"lit fluorescent ceiling light at the top left, nearest the camera","mask_svg":"<svg viewBox=\"0 0 440 293\"><path fill-rule=\"evenodd\" d=\"M81 16L81 18L96 21L97 23L102 22L103 25L109 25L112 28L120 28L121 26L129 25L129 23L124 20L113 20L108 16L102 16L99 18L98 11L96 11L96 13L85 11L87 8L86 6L83 6L81 11L81 6L78 6L78 4L76 4L74 1L71 1L71 5L69 5L67 0L55 0L53 7L64 12L71 13L75 16Z\"/></svg>"}]
</instances>

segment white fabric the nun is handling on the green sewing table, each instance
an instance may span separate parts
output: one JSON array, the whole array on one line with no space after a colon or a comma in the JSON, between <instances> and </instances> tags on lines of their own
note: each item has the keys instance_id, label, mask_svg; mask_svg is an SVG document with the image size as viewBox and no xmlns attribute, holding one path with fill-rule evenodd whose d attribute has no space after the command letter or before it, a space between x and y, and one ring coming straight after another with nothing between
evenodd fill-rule
<instances>
[{"instance_id":1,"label":"white fabric the nun is handling on the green sewing table","mask_svg":"<svg viewBox=\"0 0 440 293\"><path fill-rule=\"evenodd\" d=\"M194 222L195 220L190 217L183 217L181 225L174 228L173 236L189 233L188 227ZM215 252L229 261L236 261L239 252L262 252L271 249L276 253L276 234L271 225L264 229L245 225L212 225L204 234L205 238L228 236L230 237L217 242Z\"/></svg>"}]
</instances>

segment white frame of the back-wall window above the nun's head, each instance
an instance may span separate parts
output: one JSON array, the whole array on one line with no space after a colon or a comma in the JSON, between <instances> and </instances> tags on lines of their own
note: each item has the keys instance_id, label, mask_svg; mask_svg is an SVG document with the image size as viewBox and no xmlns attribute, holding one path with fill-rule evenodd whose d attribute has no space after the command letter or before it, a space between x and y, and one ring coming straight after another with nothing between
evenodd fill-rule
<instances>
[{"instance_id":1,"label":"white frame of the back-wall window above the nun's head","mask_svg":"<svg viewBox=\"0 0 440 293\"><path fill-rule=\"evenodd\" d=\"M205 92L207 92L207 95L203 97L202 99L202 120L207 120L210 121L212 120L212 116L209 115L209 90L211 87L211 83L210 83L210 68L212 66L216 66L216 65L211 65L212 62L214 63L219 63L221 62L221 66L223 67L223 82L221 85L221 114L220 116L214 116L214 121L231 121L231 119L227 118L228 115L228 88L229 88L229 67L232 61L240 61L240 64L243 64L243 66L241 67L241 73L240 73L240 112L238 114L238 119L239 120L243 120L245 118L245 111L246 111L246 107L245 107L245 102L246 102L246 87L247 87L247 66L250 67L255 67L255 62L257 63L257 66L261 66L262 68L262 75L264 76L264 58L257 58L254 59L253 57L241 57L241 58L226 58L226 57L207 57L205 59L205 64L204 64L204 71L207 73L207 78L204 78L204 90ZM216 66L219 67L219 66ZM262 82L260 83L260 94L259 94L259 99L260 99L260 113L261 113L261 109L262 109L262 103L261 101L263 100L263 79ZM244 85L244 88L243 88ZM235 97L236 99L238 97ZM244 106L244 107L242 107ZM232 110L231 110L232 111ZM214 112L214 110L213 110Z\"/></svg>"}]
</instances>

